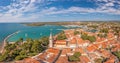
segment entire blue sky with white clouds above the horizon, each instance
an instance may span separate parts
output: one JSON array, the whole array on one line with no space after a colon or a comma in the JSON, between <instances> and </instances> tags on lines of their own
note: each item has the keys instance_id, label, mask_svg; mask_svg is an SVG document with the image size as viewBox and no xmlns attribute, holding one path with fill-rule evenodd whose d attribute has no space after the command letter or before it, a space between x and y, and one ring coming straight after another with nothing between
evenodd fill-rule
<instances>
[{"instance_id":1,"label":"entire blue sky with white clouds above the horizon","mask_svg":"<svg viewBox=\"0 0 120 63\"><path fill-rule=\"evenodd\" d=\"M0 22L120 21L120 0L0 0Z\"/></svg>"}]
</instances>

